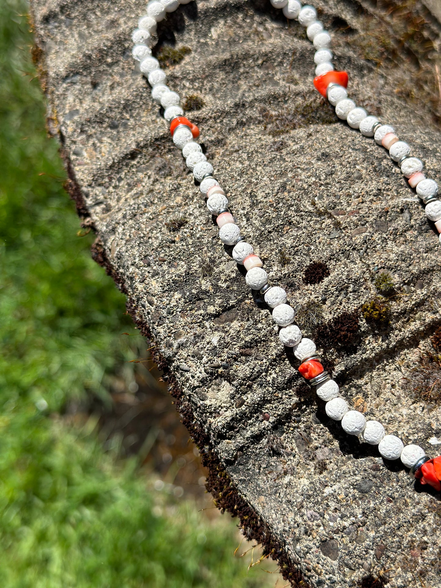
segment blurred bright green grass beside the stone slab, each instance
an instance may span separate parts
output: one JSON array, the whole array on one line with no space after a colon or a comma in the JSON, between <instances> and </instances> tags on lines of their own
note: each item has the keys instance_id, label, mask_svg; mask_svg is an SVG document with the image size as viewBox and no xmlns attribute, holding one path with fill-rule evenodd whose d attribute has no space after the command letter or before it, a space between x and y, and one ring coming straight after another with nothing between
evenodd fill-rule
<instances>
[{"instance_id":1,"label":"blurred bright green grass beside the stone slab","mask_svg":"<svg viewBox=\"0 0 441 588\"><path fill-rule=\"evenodd\" d=\"M131 375L125 300L89 254L30 59L26 4L0 6L0 585L268 585L233 559L235 523L158 502L135 460L60 411ZM270 584L274 581L271 580Z\"/></svg>"}]
</instances>

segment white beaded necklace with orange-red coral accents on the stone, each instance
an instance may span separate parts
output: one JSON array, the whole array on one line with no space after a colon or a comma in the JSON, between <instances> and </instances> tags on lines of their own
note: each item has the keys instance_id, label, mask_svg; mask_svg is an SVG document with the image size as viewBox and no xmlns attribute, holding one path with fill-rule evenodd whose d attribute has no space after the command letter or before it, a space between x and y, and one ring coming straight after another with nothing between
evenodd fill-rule
<instances>
[{"instance_id":1,"label":"white beaded necklace with orange-red coral accents on the stone","mask_svg":"<svg viewBox=\"0 0 441 588\"><path fill-rule=\"evenodd\" d=\"M165 85L166 74L159 67L159 62L152 56L149 42L167 12L173 12L179 4L188 4L191 0L151 0L147 5L145 16L138 21L138 28L133 31L133 58L139 62L139 69L152 86L152 98L160 104L163 116L170 123L173 143L182 150L186 165L193 172L199 189L206 196L208 211L216 217L219 238L225 245L232 246L232 257L246 269L245 280L252 290L258 290L272 309L272 318L280 327L279 339L300 362L299 373L310 386L316 386L316 393L326 402L326 414L333 420L341 422L343 430L349 435L360 436L369 443L377 445L380 455L387 460L400 459L410 469L410 475L422 484L441 490L441 456L434 459L425 454L418 445L403 445L399 437L386 435L383 425L377 420L368 420L358 410L349 410L348 403L339 396L339 386L323 368L316 353L315 343L302 337L302 332L295 324L295 310L287 303L286 292L279 286L270 286L268 274L263 269L262 260L254 253L253 246L240 235L233 215L228 209L228 199L213 176L213 166L206 161L202 147L195 141L199 129L186 118L179 103L180 96ZM410 156L410 147L400 141L392 126L383 124L376 116L370 116L365 109L356 106L348 98L348 74L335 71L332 65L332 52L329 49L331 38L328 31L317 20L313 6L302 6L298 0L270 0L275 8L281 8L287 19L297 19L312 41L316 52L314 55L316 90L335 106L339 119L346 121L353 129L359 129L366 137L373 137L375 142L389 151L390 158L400 167L410 188L425 205L426 217L435 223L440 233L441 243L441 201L437 198L438 186L432 179L422 173L423 162Z\"/></svg>"}]
</instances>

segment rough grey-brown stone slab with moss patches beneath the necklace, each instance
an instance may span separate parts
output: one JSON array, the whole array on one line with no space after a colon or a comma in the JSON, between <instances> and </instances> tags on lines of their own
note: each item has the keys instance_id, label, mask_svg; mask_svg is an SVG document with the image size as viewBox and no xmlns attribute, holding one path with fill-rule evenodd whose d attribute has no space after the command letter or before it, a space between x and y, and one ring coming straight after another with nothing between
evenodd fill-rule
<instances>
[{"instance_id":1,"label":"rough grey-brown stone slab with moss patches beneath the necklace","mask_svg":"<svg viewBox=\"0 0 441 588\"><path fill-rule=\"evenodd\" d=\"M280 346L268 308L253 300L243 268L219 242L131 57L144 6L34 0L41 49L34 54L68 189L83 225L96 231L93 256L156 343L156 360L209 467L208 489L293 585L370 586L389 569L391 587L415 586L417 577L441 586L439 496L416 492L400 463L383 462L377 447L328 419ZM405 68L412 76L417 65L378 67L352 42L389 26L387 11L349 0L316 6L333 34L336 66L349 71L350 97L393 125L440 183L441 135L430 101L421 95L417 105L406 103L395 91ZM439 42L439 22L422 14L426 38ZM350 408L433 454L440 410L427 412L402 385L441 322L440 247L419 198L387 152L338 121L313 90L315 49L269 2L191 2L168 15L158 34L159 45L192 50L167 68L167 83L184 98L203 98L191 118L208 161L289 302L315 300L329 320L372 299L379 270L392 276L390 325L378 330L360 318L350 351L318 350ZM188 222L170 230L182 217ZM313 260L330 275L308 286L301 276Z\"/></svg>"}]
</instances>

